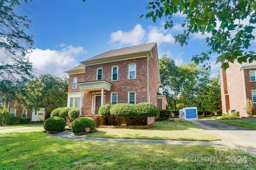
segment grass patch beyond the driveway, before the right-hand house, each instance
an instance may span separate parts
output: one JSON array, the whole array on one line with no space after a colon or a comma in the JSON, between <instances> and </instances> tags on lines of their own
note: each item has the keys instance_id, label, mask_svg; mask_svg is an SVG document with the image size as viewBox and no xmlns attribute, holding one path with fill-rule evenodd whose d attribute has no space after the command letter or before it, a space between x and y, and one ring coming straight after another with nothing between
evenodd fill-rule
<instances>
[{"instance_id":1,"label":"grass patch beyond the driveway, before the right-hand house","mask_svg":"<svg viewBox=\"0 0 256 170\"><path fill-rule=\"evenodd\" d=\"M227 123L236 126L242 126L247 128L256 129L256 117L250 118L238 118L238 119L218 119L215 121L219 121L222 123Z\"/></svg>"}]
</instances>

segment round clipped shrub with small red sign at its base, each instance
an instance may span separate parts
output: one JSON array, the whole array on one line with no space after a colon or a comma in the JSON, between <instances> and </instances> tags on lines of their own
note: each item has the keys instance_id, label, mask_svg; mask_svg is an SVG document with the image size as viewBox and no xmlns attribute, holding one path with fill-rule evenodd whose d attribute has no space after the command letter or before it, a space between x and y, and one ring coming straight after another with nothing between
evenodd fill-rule
<instances>
[{"instance_id":1,"label":"round clipped shrub with small red sign at its base","mask_svg":"<svg viewBox=\"0 0 256 170\"><path fill-rule=\"evenodd\" d=\"M86 127L89 127L92 131L95 126L95 121L92 118L79 117L72 122L71 129L73 133L83 133Z\"/></svg>"}]
</instances>

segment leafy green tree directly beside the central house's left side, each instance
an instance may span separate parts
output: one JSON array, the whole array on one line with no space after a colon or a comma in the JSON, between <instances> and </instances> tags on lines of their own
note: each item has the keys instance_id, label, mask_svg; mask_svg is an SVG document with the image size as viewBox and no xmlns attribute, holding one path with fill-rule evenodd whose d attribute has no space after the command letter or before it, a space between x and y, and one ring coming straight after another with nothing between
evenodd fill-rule
<instances>
[{"instance_id":1,"label":"leafy green tree directly beside the central house's left side","mask_svg":"<svg viewBox=\"0 0 256 170\"><path fill-rule=\"evenodd\" d=\"M45 107L46 112L67 106L68 79L50 74L41 75L28 82L23 89L23 105L26 108Z\"/></svg>"}]
</instances>

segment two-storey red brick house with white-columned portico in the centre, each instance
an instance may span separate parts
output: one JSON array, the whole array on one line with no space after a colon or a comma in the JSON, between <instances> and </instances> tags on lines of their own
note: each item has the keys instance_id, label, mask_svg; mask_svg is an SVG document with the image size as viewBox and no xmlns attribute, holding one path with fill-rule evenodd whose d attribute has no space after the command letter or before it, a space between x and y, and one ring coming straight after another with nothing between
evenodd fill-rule
<instances>
[{"instance_id":1,"label":"two-storey red brick house with white-columned portico in the centre","mask_svg":"<svg viewBox=\"0 0 256 170\"><path fill-rule=\"evenodd\" d=\"M66 72L67 107L81 108L84 115L97 115L104 103L150 102L166 108L166 98L159 92L156 43L107 51Z\"/></svg>"}]
</instances>

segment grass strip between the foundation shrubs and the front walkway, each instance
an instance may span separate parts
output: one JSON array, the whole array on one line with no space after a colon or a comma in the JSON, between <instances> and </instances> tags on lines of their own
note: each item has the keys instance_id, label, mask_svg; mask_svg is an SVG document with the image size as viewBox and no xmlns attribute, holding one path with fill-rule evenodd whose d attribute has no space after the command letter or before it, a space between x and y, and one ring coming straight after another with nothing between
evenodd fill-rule
<instances>
[{"instance_id":1,"label":"grass strip between the foundation shrubs and the front walkway","mask_svg":"<svg viewBox=\"0 0 256 170\"><path fill-rule=\"evenodd\" d=\"M216 141L218 137L205 132L203 129L187 122L155 122L155 128L128 129L128 128L97 128L97 132L86 134L91 137L111 137L121 139L156 139L181 141Z\"/></svg>"}]
</instances>

